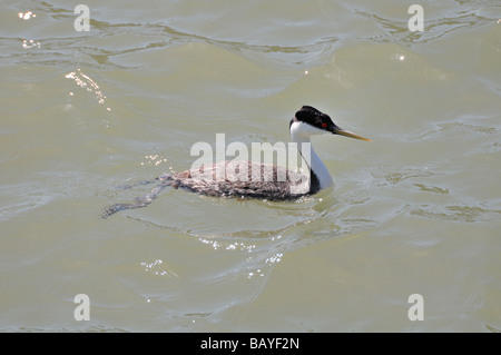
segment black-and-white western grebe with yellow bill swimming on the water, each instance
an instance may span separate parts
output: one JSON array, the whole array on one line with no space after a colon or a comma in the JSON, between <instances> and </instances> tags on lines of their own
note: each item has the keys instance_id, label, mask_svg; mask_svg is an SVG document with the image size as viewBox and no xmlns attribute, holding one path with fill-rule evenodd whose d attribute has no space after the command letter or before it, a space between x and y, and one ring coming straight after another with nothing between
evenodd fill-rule
<instances>
[{"instance_id":1,"label":"black-and-white western grebe with yellow bill swimming on the water","mask_svg":"<svg viewBox=\"0 0 501 355\"><path fill-rule=\"evenodd\" d=\"M333 134L370 140L337 127L328 117L316 108L303 106L289 122L291 137L297 144L299 154L305 159L310 176L276 165L245 160L225 160L209 166L203 165L177 174L165 174L149 184L159 181L150 194L131 204L115 204L105 208L101 218L108 218L117 211L148 206L167 186L185 188L209 196L234 196L263 198L268 200L295 199L313 195L331 187L333 180L327 167L322 162L311 146L311 136ZM306 147L306 148L305 148ZM218 174L223 171L223 178Z\"/></svg>"}]
</instances>

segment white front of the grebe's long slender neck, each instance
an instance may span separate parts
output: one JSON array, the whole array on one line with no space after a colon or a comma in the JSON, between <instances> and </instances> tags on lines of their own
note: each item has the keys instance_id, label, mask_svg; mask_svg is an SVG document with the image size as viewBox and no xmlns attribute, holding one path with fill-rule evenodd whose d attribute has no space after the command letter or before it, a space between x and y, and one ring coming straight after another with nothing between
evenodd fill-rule
<instances>
[{"instance_id":1,"label":"white front of the grebe's long slender neck","mask_svg":"<svg viewBox=\"0 0 501 355\"><path fill-rule=\"evenodd\" d=\"M331 174L328 172L327 167L325 164L321 160L321 158L317 156L315 150L313 149L312 141L310 139L310 134L304 132L301 129L301 122L294 122L291 126L291 136L292 139L297 144L297 149L299 149L304 160L311 168L312 172L315 172L316 177L320 181L320 188L321 190L327 187L331 187L334 185L334 181L332 180ZM304 144L307 144L310 146L310 161L308 161L308 151L305 148Z\"/></svg>"}]
</instances>

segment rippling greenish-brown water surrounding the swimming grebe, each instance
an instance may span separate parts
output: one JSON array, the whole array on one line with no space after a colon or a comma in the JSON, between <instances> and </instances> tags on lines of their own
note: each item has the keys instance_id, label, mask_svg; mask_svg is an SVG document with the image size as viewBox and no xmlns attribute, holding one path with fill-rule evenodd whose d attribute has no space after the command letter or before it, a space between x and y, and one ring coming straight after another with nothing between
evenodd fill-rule
<instances>
[{"instance_id":1,"label":"rippling greenish-brown water surrounding the swimming grebe","mask_svg":"<svg viewBox=\"0 0 501 355\"><path fill-rule=\"evenodd\" d=\"M0 329L499 332L498 2L2 3ZM98 218L303 105L373 140L314 137L334 188Z\"/></svg>"}]
</instances>

